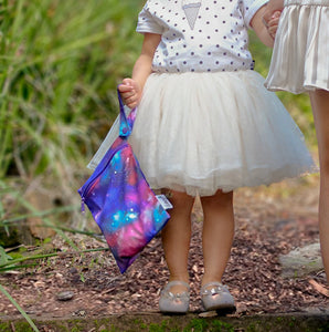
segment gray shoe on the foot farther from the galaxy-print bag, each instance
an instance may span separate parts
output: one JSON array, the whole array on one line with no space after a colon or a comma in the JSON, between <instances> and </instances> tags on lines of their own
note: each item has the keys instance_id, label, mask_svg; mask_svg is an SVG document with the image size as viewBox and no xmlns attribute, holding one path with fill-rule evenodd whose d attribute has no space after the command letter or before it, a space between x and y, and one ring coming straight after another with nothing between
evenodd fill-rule
<instances>
[{"instance_id":1,"label":"gray shoe on the foot farther from the galaxy-print bag","mask_svg":"<svg viewBox=\"0 0 329 332\"><path fill-rule=\"evenodd\" d=\"M209 282L201 288L201 300L204 309L235 311L234 299L226 286L221 282Z\"/></svg>"}]
</instances>

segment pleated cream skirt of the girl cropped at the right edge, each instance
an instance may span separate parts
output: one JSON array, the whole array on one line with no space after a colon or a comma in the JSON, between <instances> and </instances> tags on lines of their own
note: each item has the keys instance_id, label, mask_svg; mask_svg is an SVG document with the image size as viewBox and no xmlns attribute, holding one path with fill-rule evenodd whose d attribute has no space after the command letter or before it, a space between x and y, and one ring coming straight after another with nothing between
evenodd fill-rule
<instances>
[{"instance_id":1,"label":"pleated cream skirt of the girl cropped at the right edge","mask_svg":"<svg viewBox=\"0 0 329 332\"><path fill-rule=\"evenodd\" d=\"M329 0L285 1L265 86L329 91Z\"/></svg>"}]
</instances>

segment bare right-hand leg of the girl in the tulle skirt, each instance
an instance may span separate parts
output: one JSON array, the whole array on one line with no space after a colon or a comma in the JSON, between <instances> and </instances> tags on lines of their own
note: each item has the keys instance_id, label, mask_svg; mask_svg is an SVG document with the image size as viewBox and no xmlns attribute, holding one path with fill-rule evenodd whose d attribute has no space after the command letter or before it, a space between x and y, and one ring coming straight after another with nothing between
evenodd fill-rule
<instances>
[{"instance_id":1,"label":"bare right-hand leg of the girl in the tulle skirt","mask_svg":"<svg viewBox=\"0 0 329 332\"><path fill-rule=\"evenodd\" d=\"M203 257L202 286L221 282L231 253L234 236L233 193L219 190L214 196L201 197L203 208Z\"/></svg>"}]
</instances>

